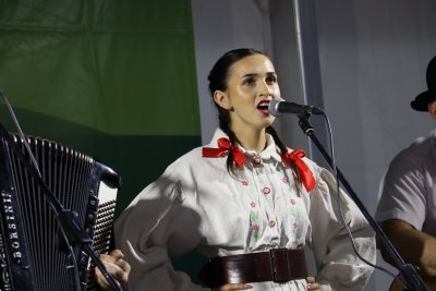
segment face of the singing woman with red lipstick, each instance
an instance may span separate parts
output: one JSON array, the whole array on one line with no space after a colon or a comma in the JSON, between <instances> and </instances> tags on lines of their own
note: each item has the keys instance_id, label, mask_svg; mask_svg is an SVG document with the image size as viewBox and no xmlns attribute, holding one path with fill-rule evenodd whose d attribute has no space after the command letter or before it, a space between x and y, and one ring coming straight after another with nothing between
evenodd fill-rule
<instances>
[{"instance_id":1,"label":"face of the singing woman with red lipstick","mask_svg":"<svg viewBox=\"0 0 436 291\"><path fill-rule=\"evenodd\" d=\"M230 66L227 90L214 94L215 100L230 112L233 131L263 130L275 117L268 104L280 96L271 61L263 54L245 57Z\"/></svg>"}]
</instances>

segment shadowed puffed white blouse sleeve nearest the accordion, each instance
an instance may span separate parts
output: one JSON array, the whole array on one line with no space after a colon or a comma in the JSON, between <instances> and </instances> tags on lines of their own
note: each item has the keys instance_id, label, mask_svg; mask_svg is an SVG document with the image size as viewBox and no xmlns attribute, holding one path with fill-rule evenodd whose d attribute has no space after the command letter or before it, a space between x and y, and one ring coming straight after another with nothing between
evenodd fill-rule
<instances>
[{"instance_id":1,"label":"shadowed puffed white blouse sleeve nearest the accordion","mask_svg":"<svg viewBox=\"0 0 436 291\"><path fill-rule=\"evenodd\" d=\"M195 248L199 217L183 201L182 182L165 173L141 192L116 223L116 244L131 264L130 291L209 290L175 271L170 256Z\"/></svg>"}]
</instances>

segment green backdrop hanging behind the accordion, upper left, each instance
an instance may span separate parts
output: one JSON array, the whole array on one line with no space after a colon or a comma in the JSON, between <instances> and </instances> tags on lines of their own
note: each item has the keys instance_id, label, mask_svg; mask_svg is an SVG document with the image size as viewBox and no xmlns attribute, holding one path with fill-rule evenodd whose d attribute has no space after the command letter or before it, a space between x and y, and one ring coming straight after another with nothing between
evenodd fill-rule
<instances>
[{"instance_id":1,"label":"green backdrop hanging behind the accordion, upper left","mask_svg":"<svg viewBox=\"0 0 436 291\"><path fill-rule=\"evenodd\" d=\"M121 175L118 216L201 143L191 2L0 0L0 87L25 134Z\"/></svg>"}]
</instances>

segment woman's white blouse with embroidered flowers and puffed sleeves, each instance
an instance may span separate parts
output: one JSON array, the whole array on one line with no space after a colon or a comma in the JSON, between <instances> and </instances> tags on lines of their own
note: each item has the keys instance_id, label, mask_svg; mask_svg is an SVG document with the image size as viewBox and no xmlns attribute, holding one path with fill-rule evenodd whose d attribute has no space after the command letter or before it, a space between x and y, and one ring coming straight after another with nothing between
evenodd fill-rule
<instances>
[{"instance_id":1,"label":"woman's white blouse with embroidered flowers and puffed sleeves","mask_svg":"<svg viewBox=\"0 0 436 291\"><path fill-rule=\"evenodd\" d=\"M208 147L227 137L217 130ZM235 177L223 157L195 148L144 189L116 223L117 246L131 264L129 290L208 290L174 271L170 256L197 250L207 257L308 245L324 290L363 290L373 268L358 258L340 222L334 177L310 159L316 186L295 183L268 135L261 154L246 157ZM375 262L374 233L354 203L341 194L341 210L360 254ZM305 290L305 281L250 283L251 290Z\"/></svg>"}]
</instances>

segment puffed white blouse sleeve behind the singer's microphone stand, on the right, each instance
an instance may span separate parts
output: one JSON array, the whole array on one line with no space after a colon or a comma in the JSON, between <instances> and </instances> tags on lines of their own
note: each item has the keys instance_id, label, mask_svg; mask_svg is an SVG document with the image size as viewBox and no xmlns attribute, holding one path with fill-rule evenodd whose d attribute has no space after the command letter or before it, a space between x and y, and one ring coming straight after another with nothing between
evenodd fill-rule
<instances>
[{"instance_id":1,"label":"puffed white blouse sleeve behind the singer's microphone stand, on the right","mask_svg":"<svg viewBox=\"0 0 436 291\"><path fill-rule=\"evenodd\" d=\"M373 267L354 253L338 210L336 180L329 171L317 168L317 186L311 197L310 245L317 266L316 281L324 290L363 290ZM341 210L354 239L356 250L366 260L375 263L375 233L351 198L341 191Z\"/></svg>"}]
</instances>

